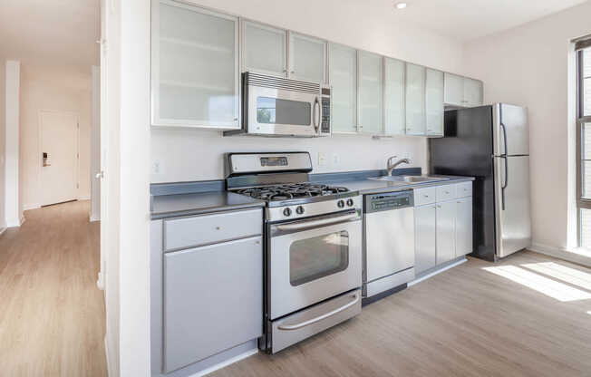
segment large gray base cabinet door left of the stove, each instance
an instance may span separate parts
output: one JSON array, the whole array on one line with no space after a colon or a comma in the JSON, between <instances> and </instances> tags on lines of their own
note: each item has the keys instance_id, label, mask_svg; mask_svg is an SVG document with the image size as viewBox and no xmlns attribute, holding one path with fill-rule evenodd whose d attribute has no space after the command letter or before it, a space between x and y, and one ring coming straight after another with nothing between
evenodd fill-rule
<instances>
[{"instance_id":1,"label":"large gray base cabinet door left of the stove","mask_svg":"<svg viewBox=\"0 0 591 377\"><path fill-rule=\"evenodd\" d=\"M164 255L163 372L261 336L261 245L257 236Z\"/></svg>"}]
</instances>

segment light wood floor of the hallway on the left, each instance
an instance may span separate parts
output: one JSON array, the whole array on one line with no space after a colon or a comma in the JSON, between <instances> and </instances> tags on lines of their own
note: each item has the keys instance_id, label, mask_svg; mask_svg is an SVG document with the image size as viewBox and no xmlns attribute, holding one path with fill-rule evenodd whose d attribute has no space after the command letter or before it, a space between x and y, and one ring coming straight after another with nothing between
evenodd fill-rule
<instances>
[{"instance_id":1,"label":"light wood floor of the hallway on the left","mask_svg":"<svg viewBox=\"0 0 591 377\"><path fill-rule=\"evenodd\" d=\"M0 236L0 375L105 376L99 223L89 202L25 212Z\"/></svg>"}]
</instances>

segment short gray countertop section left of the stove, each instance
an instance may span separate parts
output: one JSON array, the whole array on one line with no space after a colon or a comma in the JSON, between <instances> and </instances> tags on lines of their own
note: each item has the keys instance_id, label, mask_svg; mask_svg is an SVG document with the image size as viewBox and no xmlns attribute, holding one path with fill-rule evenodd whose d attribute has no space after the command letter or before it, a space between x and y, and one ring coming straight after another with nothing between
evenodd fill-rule
<instances>
[{"instance_id":1,"label":"short gray countertop section left of the stove","mask_svg":"<svg viewBox=\"0 0 591 377\"><path fill-rule=\"evenodd\" d=\"M151 197L151 219L202 215L232 209L265 207L265 202L228 191Z\"/></svg>"}]
</instances>

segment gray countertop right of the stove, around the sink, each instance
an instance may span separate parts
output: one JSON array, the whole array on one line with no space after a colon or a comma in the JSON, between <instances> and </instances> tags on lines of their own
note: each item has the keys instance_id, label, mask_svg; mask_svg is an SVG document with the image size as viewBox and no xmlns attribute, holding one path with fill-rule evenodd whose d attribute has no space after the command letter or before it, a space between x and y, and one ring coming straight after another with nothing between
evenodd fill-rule
<instances>
[{"instance_id":1,"label":"gray countertop right of the stove, around the sink","mask_svg":"<svg viewBox=\"0 0 591 377\"><path fill-rule=\"evenodd\" d=\"M473 177L457 177L457 176L439 176L430 175L430 177L444 177L448 180L439 180L436 182L421 182L421 183L409 183L401 185L400 182L389 182L384 180L373 180L373 179L352 179L352 180L338 180L338 181L326 181L318 182L325 183L332 186L343 186L351 191L359 191L360 194L376 194L380 192L392 192L401 191L404 189L422 189L432 186L451 185L453 183L465 182L474 180Z\"/></svg>"}]
</instances>

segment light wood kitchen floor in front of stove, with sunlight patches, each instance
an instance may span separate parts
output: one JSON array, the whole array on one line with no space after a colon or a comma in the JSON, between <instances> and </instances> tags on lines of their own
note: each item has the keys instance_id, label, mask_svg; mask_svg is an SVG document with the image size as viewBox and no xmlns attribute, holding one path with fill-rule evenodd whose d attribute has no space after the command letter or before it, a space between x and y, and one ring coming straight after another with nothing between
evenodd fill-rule
<instances>
[{"instance_id":1,"label":"light wood kitchen floor in front of stove, with sunlight patches","mask_svg":"<svg viewBox=\"0 0 591 377\"><path fill-rule=\"evenodd\" d=\"M539 265L522 266L530 264ZM482 269L491 266L504 275ZM213 375L591 376L591 270L531 252L498 265L470 259L284 352Z\"/></svg>"}]
</instances>

